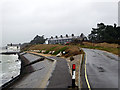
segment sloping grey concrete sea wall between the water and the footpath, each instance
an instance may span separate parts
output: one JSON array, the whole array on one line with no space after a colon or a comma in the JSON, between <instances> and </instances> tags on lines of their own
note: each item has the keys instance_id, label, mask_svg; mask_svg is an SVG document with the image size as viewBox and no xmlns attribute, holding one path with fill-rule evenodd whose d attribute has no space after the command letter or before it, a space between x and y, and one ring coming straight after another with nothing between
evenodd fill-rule
<instances>
[{"instance_id":1,"label":"sloping grey concrete sea wall between the water and the footpath","mask_svg":"<svg viewBox=\"0 0 120 90\"><path fill-rule=\"evenodd\" d=\"M20 75L2 86L3 90L10 88L45 88L55 66L55 60L32 53L20 53Z\"/></svg>"}]
</instances>

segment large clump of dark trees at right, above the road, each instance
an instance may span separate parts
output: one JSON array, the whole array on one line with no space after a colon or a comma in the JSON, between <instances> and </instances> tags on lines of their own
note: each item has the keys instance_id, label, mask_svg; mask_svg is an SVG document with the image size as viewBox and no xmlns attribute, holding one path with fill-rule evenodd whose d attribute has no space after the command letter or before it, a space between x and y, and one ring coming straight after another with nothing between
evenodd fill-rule
<instances>
[{"instance_id":1,"label":"large clump of dark trees at right, above the road","mask_svg":"<svg viewBox=\"0 0 120 90\"><path fill-rule=\"evenodd\" d=\"M120 28L112 25L104 25L104 23L97 24L97 28L92 28L91 33L88 35L90 41L94 42L118 42Z\"/></svg>"}]
</instances>

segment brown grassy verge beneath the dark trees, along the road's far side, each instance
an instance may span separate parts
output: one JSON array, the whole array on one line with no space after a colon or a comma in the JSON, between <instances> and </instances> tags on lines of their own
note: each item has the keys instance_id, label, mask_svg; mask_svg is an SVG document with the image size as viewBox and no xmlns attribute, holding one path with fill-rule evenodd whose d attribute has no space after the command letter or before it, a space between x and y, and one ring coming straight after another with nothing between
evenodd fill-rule
<instances>
[{"instance_id":1,"label":"brown grassy verge beneath the dark trees, along the road's far side","mask_svg":"<svg viewBox=\"0 0 120 90\"><path fill-rule=\"evenodd\" d=\"M90 43L83 42L83 45L80 45L82 48L98 49L104 50L116 55L119 55L120 47L118 44L109 44L109 43Z\"/></svg>"}]
</instances>

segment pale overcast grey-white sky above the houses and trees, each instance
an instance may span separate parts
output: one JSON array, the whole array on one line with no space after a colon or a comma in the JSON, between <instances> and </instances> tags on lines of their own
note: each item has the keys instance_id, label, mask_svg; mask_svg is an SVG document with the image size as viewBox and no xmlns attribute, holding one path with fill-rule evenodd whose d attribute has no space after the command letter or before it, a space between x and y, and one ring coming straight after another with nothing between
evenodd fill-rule
<instances>
[{"instance_id":1,"label":"pale overcast grey-white sky above the houses and trees","mask_svg":"<svg viewBox=\"0 0 120 90\"><path fill-rule=\"evenodd\" d=\"M36 35L49 38L61 34L84 33L87 36L97 23L118 23L118 0L0 2L0 36L3 45L29 42Z\"/></svg>"}]
</instances>

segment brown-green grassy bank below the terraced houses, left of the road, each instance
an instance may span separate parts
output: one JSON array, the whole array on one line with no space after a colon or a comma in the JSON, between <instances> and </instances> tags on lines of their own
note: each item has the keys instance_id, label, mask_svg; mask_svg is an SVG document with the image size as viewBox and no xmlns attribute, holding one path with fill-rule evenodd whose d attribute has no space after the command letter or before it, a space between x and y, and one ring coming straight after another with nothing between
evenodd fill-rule
<instances>
[{"instance_id":1,"label":"brown-green grassy bank below the terraced houses, left of the road","mask_svg":"<svg viewBox=\"0 0 120 90\"><path fill-rule=\"evenodd\" d=\"M55 51L53 55L57 55L59 52L65 51L66 54L64 57L74 56L81 54L79 46L77 45L47 45L47 44L38 44L38 45L29 45L22 49L22 51L30 50L39 50L38 53L41 53L42 50L45 50L44 54L48 54L50 51Z\"/></svg>"}]
</instances>

